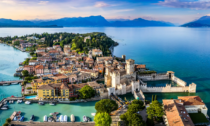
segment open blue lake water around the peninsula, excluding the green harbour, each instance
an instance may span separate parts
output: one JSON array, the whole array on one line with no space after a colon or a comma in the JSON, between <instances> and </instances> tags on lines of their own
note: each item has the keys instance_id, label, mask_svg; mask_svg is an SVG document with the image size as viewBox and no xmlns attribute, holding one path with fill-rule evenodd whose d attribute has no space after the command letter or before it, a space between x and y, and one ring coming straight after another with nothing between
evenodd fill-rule
<instances>
[{"instance_id":1,"label":"open blue lake water around the peninsula, excluding the green harbour","mask_svg":"<svg viewBox=\"0 0 210 126\"><path fill-rule=\"evenodd\" d=\"M115 47L114 55L125 54L126 58L132 58L136 63L146 64L147 68L161 73L174 71L177 77L188 84L192 82L197 84L195 94L155 93L159 101L163 98L177 98L179 95L199 95L210 108L210 98L207 97L210 95L210 28L1 28L0 36L20 36L43 32L105 32L119 42L119 46ZM0 80L16 79L13 77L14 70L11 67L15 68L18 62L27 56L25 53L16 55L17 50L5 51L8 48L11 47L0 46ZM12 90L9 89L10 87L4 88L3 90ZM2 87L0 91L1 89ZM13 95L13 92L6 93ZM145 94L146 99L150 100L151 95ZM130 97L132 98L132 95ZM208 114L210 115L210 111Z\"/></svg>"}]
</instances>

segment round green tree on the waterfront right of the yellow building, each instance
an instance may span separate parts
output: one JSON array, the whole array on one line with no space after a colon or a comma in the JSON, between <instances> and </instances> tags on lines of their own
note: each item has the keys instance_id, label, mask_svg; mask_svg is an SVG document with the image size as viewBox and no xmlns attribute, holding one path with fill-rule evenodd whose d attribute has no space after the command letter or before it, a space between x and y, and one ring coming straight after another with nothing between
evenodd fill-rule
<instances>
[{"instance_id":1,"label":"round green tree on the waterfront right of the yellow building","mask_svg":"<svg viewBox=\"0 0 210 126\"><path fill-rule=\"evenodd\" d=\"M88 85L85 85L82 89L80 89L79 93L80 93L80 97L83 99L87 99L87 98L91 98L95 96L95 90Z\"/></svg>"}]
</instances>

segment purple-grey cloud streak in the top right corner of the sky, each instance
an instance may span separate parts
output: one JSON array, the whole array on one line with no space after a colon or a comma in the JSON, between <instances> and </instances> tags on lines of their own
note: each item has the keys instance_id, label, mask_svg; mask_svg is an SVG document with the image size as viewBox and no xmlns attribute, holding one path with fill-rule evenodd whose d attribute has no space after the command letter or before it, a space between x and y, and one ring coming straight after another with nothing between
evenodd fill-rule
<instances>
[{"instance_id":1,"label":"purple-grey cloud streak in the top right corner of the sky","mask_svg":"<svg viewBox=\"0 0 210 126\"><path fill-rule=\"evenodd\" d=\"M183 1L183 0L164 0L159 1L156 5L174 7L174 8L190 8L196 10L207 10L210 9L209 0L199 0L199 1Z\"/></svg>"}]
</instances>

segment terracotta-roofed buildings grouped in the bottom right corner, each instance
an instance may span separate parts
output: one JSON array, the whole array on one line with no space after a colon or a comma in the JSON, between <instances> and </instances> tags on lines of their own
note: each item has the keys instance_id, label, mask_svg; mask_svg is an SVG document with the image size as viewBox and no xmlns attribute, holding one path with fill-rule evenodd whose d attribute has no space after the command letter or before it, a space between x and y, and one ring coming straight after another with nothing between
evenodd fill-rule
<instances>
[{"instance_id":1,"label":"terracotta-roofed buildings grouped in the bottom right corner","mask_svg":"<svg viewBox=\"0 0 210 126\"><path fill-rule=\"evenodd\" d=\"M208 117L208 108L199 96L179 96L178 99L164 99L163 107L165 111L163 120L166 126L194 126L195 121L193 122L190 114L202 113L203 118ZM197 118L202 117L197 115Z\"/></svg>"}]
</instances>

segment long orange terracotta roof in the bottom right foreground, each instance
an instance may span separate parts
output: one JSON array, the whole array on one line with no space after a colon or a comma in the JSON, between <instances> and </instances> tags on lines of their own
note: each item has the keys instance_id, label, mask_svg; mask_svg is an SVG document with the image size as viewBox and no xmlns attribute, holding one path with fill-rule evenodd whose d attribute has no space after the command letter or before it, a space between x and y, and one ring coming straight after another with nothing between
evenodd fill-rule
<instances>
[{"instance_id":1,"label":"long orange terracotta roof in the bottom right foreground","mask_svg":"<svg viewBox=\"0 0 210 126\"><path fill-rule=\"evenodd\" d=\"M163 105L169 126L194 126L180 100L163 100Z\"/></svg>"}]
</instances>

